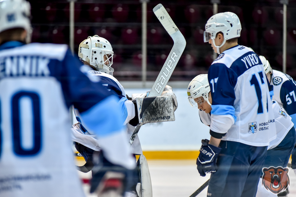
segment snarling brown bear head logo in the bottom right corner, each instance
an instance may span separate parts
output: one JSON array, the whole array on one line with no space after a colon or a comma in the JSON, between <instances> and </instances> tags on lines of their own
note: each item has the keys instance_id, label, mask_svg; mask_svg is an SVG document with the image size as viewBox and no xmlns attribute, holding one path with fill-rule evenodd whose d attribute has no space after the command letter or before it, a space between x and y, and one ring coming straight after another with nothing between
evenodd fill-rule
<instances>
[{"instance_id":1,"label":"snarling brown bear head logo in the bottom right corner","mask_svg":"<svg viewBox=\"0 0 296 197\"><path fill-rule=\"evenodd\" d=\"M262 168L262 186L272 193L280 193L287 189L290 185L290 178L288 175L289 169L287 167L263 167Z\"/></svg>"}]
</instances>

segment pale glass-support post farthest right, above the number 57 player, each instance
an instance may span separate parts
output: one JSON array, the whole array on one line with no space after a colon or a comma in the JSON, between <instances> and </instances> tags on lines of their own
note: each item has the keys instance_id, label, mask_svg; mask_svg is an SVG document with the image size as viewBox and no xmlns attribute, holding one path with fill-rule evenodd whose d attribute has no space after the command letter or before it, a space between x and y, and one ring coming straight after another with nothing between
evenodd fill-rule
<instances>
[{"instance_id":1,"label":"pale glass-support post farthest right, above the number 57 player","mask_svg":"<svg viewBox=\"0 0 296 197\"><path fill-rule=\"evenodd\" d=\"M289 0L280 0L283 4L283 73L287 72L287 5Z\"/></svg>"}]
</instances>

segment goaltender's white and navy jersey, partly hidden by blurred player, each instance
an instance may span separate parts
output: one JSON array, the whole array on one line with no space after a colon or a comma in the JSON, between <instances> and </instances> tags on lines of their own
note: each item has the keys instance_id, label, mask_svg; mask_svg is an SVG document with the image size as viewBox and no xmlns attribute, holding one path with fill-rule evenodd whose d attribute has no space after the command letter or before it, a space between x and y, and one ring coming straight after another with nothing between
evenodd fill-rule
<instances>
[{"instance_id":1,"label":"goaltender's white and navy jersey, partly hidden by blurred player","mask_svg":"<svg viewBox=\"0 0 296 197\"><path fill-rule=\"evenodd\" d=\"M127 127L126 141L128 142L133 134L133 131L135 130L135 127L128 123L132 118L135 117L135 106L133 102L126 98L126 92L123 86L112 75L92 70L89 66L84 66L83 70L85 71L87 70L87 73L92 77L99 76L100 82L103 84L103 86L105 86L110 93L118 97L119 99L118 104L120 105L120 108L121 108L121 115L125 120L123 124L126 125ZM101 148L98 140L95 138L94 135L89 133L83 127L83 122L79 118L80 115L78 111L75 110L74 112L75 112L77 121L80 122L81 124L78 123L73 125L72 140L82 144L83 146L93 149L95 151L100 151ZM133 154L143 154L141 143L138 136L136 136L131 146L131 152Z\"/></svg>"}]
</instances>

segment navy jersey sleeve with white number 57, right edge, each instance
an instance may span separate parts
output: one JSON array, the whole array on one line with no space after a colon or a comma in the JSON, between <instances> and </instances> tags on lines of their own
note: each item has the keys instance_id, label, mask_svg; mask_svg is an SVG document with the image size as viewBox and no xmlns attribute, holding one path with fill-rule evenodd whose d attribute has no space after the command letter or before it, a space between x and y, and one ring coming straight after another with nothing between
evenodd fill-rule
<instances>
[{"instance_id":1,"label":"navy jersey sleeve with white number 57, right edge","mask_svg":"<svg viewBox=\"0 0 296 197\"><path fill-rule=\"evenodd\" d=\"M281 86L280 98L283 103L284 109L291 116L292 122L296 124L296 86L288 80L285 81Z\"/></svg>"}]
</instances>

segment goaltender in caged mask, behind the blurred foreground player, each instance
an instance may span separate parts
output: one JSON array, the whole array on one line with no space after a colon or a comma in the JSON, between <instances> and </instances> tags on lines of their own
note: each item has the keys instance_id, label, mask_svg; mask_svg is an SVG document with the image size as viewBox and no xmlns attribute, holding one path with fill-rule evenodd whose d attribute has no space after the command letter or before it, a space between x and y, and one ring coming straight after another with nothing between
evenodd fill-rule
<instances>
[{"instance_id":1,"label":"goaltender in caged mask, behind the blurred foreground player","mask_svg":"<svg viewBox=\"0 0 296 197\"><path fill-rule=\"evenodd\" d=\"M114 69L111 67L113 64L113 51L112 46L108 40L99 37L98 35L89 36L86 40L83 40L79 45L78 56L83 62L84 70L88 72L92 77L99 76L100 82L107 87L107 89L119 98L119 104L121 106L122 116L125 119L124 124L127 126L127 138L128 142L131 138L135 126L138 125L138 110L136 102L132 102L126 95L123 86L118 80L113 77ZM166 86L162 95L172 95L174 98L175 110L178 106L176 96L173 93L170 86ZM128 100L130 99L130 100ZM75 107L75 106L74 106ZM83 122L79 118L79 114L75 110L75 115L78 123L73 125L73 141L76 142L75 147L86 160L86 171L91 170L94 166L93 155L100 151L99 141L93 138L92 135L83 127ZM133 144L131 145L131 152L135 155L143 154L139 137L136 136ZM93 172L93 176L94 172ZM138 176L138 172L136 172ZM139 182L139 181L138 181ZM136 182L136 184L138 183ZM136 188L130 188L130 191L126 193L126 196L131 196Z\"/></svg>"}]
</instances>

